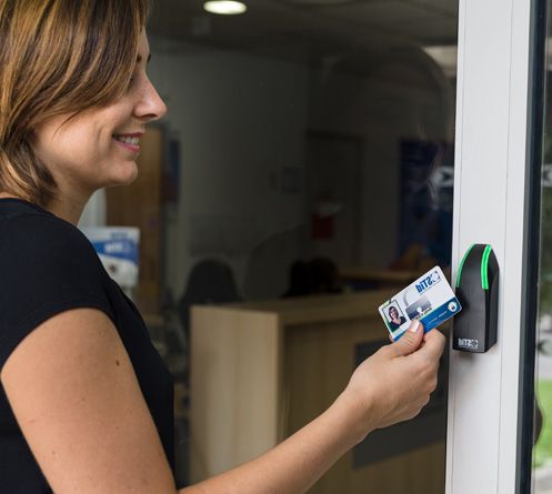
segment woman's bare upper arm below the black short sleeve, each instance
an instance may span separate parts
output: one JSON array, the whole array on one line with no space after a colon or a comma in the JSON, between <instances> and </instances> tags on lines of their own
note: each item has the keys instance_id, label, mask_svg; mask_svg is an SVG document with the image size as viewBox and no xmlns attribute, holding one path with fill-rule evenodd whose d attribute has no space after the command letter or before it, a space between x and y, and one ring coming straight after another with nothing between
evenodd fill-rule
<instances>
[{"instance_id":1,"label":"woman's bare upper arm below the black short sleeve","mask_svg":"<svg viewBox=\"0 0 552 494\"><path fill-rule=\"evenodd\" d=\"M129 356L103 312L76 309L43 322L0 379L54 492L175 492Z\"/></svg>"}]
</instances>

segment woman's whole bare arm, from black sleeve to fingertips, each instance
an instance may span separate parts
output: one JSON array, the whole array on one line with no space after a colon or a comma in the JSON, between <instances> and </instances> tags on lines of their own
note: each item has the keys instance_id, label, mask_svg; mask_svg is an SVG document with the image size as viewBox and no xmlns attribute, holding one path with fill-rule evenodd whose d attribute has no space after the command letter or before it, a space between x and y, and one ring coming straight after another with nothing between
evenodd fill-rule
<instances>
[{"instance_id":1,"label":"woman's whole bare arm, from black sleeve to fingertips","mask_svg":"<svg viewBox=\"0 0 552 494\"><path fill-rule=\"evenodd\" d=\"M181 493L300 493L371 430L415 415L434 387L443 336L408 333L354 372L330 409L252 462ZM174 494L133 369L111 321L79 309L34 330L0 374L58 494Z\"/></svg>"}]
</instances>

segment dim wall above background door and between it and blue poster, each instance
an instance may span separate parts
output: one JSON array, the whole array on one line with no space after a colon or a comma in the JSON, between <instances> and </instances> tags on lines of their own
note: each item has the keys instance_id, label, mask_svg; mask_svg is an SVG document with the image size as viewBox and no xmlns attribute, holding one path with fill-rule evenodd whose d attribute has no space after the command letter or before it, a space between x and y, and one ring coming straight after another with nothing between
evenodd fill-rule
<instances>
[{"instance_id":1,"label":"dim wall above background door and between it and blue poster","mask_svg":"<svg viewBox=\"0 0 552 494\"><path fill-rule=\"evenodd\" d=\"M383 268L399 254L400 141L452 142L454 97L421 50L391 52L363 75L319 70L310 78L310 127L363 142L361 259Z\"/></svg>"}]
</instances>

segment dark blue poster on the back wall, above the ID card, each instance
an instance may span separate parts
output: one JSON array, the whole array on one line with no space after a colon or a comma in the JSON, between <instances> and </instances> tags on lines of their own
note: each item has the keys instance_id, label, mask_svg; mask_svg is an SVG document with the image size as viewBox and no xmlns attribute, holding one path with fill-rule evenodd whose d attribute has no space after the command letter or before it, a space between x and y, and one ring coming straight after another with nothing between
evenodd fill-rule
<instances>
[{"instance_id":1,"label":"dark blue poster on the back wall, above the ID card","mask_svg":"<svg viewBox=\"0 0 552 494\"><path fill-rule=\"evenodd\" d=\"M451 263L454 148L436 141L402 140L401 233L403 254L419 244L441 266Z\"/></svg>"}]
</instances>

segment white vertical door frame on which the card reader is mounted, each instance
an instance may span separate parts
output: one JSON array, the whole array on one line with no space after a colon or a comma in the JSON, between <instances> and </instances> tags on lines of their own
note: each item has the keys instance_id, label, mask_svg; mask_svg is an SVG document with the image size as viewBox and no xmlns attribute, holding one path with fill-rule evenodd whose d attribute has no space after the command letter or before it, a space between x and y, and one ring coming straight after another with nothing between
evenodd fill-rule
<instances>
[{"instance_id":1,"label":"white vertical door frame on which the card reader is mounted","mask_svg":"<svg viewBox=\"0 0 552 494\"><path fill-rule=\"evenodd\" d=\"M501 286L496 344L484 354L451 350L448 494L518 490L536 2L459 4L453 279L470 244L490 243Z\"/></svg>"}]
</instances>

